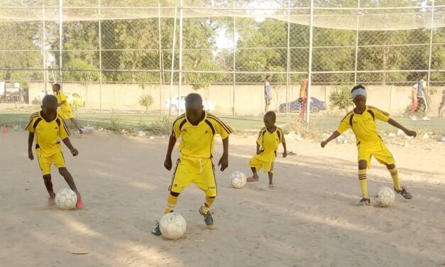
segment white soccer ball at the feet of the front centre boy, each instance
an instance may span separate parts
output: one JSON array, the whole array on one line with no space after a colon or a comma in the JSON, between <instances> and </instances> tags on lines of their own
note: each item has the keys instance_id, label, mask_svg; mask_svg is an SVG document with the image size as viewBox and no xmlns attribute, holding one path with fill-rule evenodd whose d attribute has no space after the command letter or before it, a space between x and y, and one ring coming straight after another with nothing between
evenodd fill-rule
<instances>
[{"instance_id":1,"label":"white soccer ball at the feet of the front centre boy","mask_svg":"<svg viewBox=\"0 0 445 267\"><path fill-rule=\"evenodd\" d=\"M159 229L166 239L180 239L187 229L187 223L181 214L170 212L160 218Z\"/></svg>"}]
</instances>

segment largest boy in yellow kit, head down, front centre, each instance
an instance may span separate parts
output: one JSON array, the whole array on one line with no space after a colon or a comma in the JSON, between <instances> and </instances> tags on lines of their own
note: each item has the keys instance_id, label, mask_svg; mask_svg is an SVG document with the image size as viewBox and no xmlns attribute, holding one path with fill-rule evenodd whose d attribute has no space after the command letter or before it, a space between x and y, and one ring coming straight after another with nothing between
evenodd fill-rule
<instances>
[{"instance_id":1,"label":"largest boy in yellow kit, head down, front centre","mask_svg":"<svg viewBox=\"0 0 445 267\"><path fill-rule=\"evenodd\" d=\"M173 123L172 134L168 142L167 156L164 167L172 169L172 151L177 138L181 137L178 151L180 158L176 161L175 172L168 190L167 206L164 214L173 212L177 197L188 185L194 183L205 194L204 205L199 207L199 214L204 217L207 228L214 229L214 219L211 217L210 206L217 195L215 169L212 163L214 138L219 134L223 141L224 153L219 160L221 171L224 171L229 157L229 134L232 130L216 116L208 114L202 107L199 94L189 94L185 98L185 114L179 116ZM151 232L160 236L159 224Z\"/></svg>"}]
</instances>

